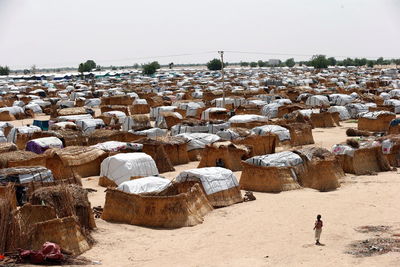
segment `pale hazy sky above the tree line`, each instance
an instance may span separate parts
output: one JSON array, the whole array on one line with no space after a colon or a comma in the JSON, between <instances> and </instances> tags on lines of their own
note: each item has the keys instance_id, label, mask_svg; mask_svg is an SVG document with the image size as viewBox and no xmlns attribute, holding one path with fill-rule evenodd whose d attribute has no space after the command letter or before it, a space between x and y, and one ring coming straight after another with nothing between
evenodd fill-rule
<instances>
[{"instance_id":1,"label":"pale hazy sky above the tree line","mask_svg":"<svg viewBox=\"0 0 400 267\"><path fill-rule=\"evenodd\" d=\"M282 61L326 54L400 58L400 1L0 0L0 65L12 69L158 60ZM129 59L129 60L122 60Z\"/></svg>"}]
</instances>

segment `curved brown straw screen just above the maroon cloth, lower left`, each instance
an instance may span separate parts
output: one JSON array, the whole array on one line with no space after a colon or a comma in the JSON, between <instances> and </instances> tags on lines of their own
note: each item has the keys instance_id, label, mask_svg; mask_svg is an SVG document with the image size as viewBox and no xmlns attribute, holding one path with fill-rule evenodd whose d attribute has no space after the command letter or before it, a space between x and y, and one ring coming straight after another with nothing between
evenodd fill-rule
<instances>
[{"instance_id":1,"label":"curved brown straw screen just above the maroon cloth, lower left","mask_svg":"<svg viewBox=\"0 0 400 267\"><path fill-rule=\"evenodd\" d=\"M46 241L71 251L72 255L80 255L92 248L76 216L36 223L32 230L31 249L40 250Z\"/></svg>"}]
</instances>

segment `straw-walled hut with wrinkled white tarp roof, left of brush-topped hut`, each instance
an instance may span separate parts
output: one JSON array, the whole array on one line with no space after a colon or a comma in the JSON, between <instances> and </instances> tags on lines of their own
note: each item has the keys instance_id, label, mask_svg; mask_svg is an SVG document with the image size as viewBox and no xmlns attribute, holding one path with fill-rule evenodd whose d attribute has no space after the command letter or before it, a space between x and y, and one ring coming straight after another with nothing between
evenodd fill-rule
<instances>
[{"instance_id":1,"label":"straw-walled hut with wrinkled white tarp roof, left of brush-topped hut","mask_svg":"<svg viewBox=\"0 0 400 267\"><path fill-rule=\"evenodd\" d=\"M242 190L281 192L301 188L296 180L304 169L303 161L290 151L252 157L242 161L242 166Z\"/></svg>"}]
</instances>

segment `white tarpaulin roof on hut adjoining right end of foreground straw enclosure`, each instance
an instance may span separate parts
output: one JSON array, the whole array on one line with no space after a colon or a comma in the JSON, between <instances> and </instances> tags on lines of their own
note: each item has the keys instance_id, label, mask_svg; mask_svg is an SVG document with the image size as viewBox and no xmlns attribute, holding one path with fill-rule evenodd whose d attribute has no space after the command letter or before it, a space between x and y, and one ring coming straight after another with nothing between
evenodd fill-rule
<instances>
[{"instance_id":1,"label":"white tarpaulin roof on hut adjoining right end of foreground straw enclosure","mask_svg":"<svg viewBox=\"0 0 400 267\"><path fill-rule=\"evenodd\" d=\"M231 170L209 167L181 171L175 178L178 182L201 181L207 195L238 186L238 180Z\"/></svg>"}]
</instances>

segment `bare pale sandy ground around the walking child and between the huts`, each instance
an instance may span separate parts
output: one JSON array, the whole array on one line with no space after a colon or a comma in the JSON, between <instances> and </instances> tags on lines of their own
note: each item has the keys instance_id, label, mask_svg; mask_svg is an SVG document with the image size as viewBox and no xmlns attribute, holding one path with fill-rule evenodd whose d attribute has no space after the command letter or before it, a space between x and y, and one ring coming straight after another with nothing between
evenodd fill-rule
<instances>
[{"instance_id":1,"label":"bare pale sandy ground around the walking child and between the huts","mask_svg":"<svg viewBox=\"0 0 400 267\"><path fill-rule=\"evenodd\" d=\"M21 122L12 123L19 126ZM27 123L32 121L24 120ZM341 123L340 127L315 128L315 146L330 150L347 139L345 127L356 126ZM176 171L162 175L172 180L197 165L178 165ZM239 180L241 172L235 175ZM97 185L98 178L84 178L82 183L98 190L89 194L92 206L103 207L106 193ZM355 231L357 227L385 225L400 233L399 173L347 175L341 185L329 192L308 188L254 192L256 201L211 211L194 227L162 229L96 219L97 244L83 256L103 266L398 266L400 253L358 258L345 252L350 243L374 237ZM314 244L312 230L317 214L324 221L321 245Z\"/></svg>"}]
</instances>

